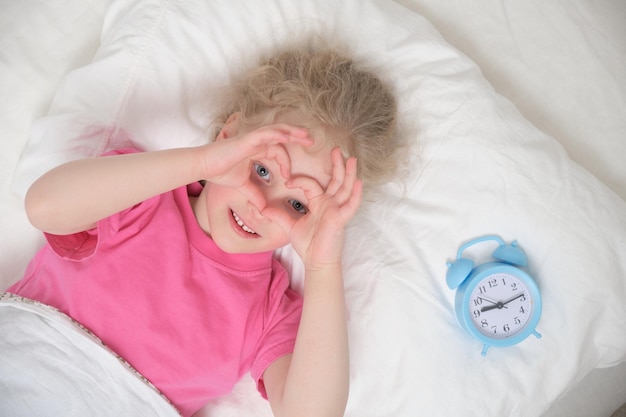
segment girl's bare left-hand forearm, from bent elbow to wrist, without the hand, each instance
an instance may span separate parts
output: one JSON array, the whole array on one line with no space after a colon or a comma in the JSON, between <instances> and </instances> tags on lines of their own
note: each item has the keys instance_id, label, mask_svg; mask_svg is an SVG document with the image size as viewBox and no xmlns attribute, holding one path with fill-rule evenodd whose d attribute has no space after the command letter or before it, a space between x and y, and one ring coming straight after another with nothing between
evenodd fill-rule
<instances>
[{"instance_id":1,"label":"girl's bare left-hand forearm, from bent elbow to wrist, without the hand","mask_svg":"<svg viewBox=\"0 0 626 417\"><path fill-rule=\"evenodd\" d=\"M199 179L194 148L112 155L60 165L26 194L26 213L54 234L87 230L107 216Z\"/></svg>"}]
</instances>

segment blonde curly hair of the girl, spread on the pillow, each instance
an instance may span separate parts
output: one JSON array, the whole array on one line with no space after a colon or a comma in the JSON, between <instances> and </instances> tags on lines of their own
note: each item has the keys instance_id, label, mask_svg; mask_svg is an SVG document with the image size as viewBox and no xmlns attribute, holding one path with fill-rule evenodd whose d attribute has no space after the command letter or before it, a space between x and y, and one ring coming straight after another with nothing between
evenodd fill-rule
<instances>
[{"instance_id":1,"label":"blonde curly hair of the girl, spread on the pillow","mask_svg":"<svg viewBox=\"0 0 626 417\"><path fill-rule=\"evenodd\" d=\"M397 104L374 73L333 50L280 52L235 82L223 123L240 113L244 126L271 123L295 112L317 121L344 156L355 156L365 184L381 183L397 170Z\"/></svg>"}]
</instances>

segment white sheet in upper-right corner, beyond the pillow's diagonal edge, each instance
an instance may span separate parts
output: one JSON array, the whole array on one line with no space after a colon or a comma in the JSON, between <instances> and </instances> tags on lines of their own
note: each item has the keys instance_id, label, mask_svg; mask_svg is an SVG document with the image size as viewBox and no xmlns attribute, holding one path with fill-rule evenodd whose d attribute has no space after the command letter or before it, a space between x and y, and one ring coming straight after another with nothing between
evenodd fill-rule
<instances>
[{"instance_id":1,"label":"white sheet in upper-right corner, beyond the pillow's diagonal edge","mask_svg":"<svg viewBox=\"0 0 626 417\"><path fill-rule=\"evenodd\" d=\"M626 199L626 3L396 0Z\"/></svg>"}]
</instances>

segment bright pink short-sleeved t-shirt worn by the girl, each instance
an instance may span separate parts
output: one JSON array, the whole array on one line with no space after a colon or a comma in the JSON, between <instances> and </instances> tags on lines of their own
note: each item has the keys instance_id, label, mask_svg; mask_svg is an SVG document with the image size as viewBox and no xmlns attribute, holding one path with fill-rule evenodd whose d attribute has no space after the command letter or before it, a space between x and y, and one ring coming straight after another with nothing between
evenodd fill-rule
<instances>
[{"instance_id":1,"label":"bright pink short-sleeved t-shirt worn by the girl","mask_svg":"<svg viewBox=\"0 0 626 417\"><path fill-rule=\"evenodd\" d=\"M185 416L293 351L302 307L272 253L229 254L191 209L199 185L151 198L95 230L47 235L9 292L100 337ZM195 188L195 189L194 189Z\"/></svg>"}]
</instances>

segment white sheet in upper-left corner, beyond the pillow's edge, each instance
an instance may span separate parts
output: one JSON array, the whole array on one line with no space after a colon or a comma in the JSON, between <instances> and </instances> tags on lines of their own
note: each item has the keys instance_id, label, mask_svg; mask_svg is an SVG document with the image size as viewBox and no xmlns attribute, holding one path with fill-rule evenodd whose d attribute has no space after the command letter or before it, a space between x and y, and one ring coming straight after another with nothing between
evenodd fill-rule
<instances>
[{"instance_id":1,"label":"white sheet in upper-left corner, beyond the pillow's edge","mask_svg":"<svg viewBox=\"0 0 626 417\"><path fill-rule=\"evenodd\" d=\"M19 278L42 243L12 187L31 125L46 114L62 78L89 63L108 0L0 0L0 283Z\"/></svg>"}]
</instances>

